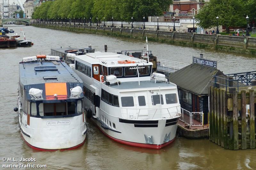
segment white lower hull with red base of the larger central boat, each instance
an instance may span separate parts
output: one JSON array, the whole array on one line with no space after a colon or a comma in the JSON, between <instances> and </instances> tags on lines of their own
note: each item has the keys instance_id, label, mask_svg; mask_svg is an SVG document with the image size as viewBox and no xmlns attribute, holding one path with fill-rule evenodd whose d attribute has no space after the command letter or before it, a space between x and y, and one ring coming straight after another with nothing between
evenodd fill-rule
<instances>
[{"instance_id":1,"label":"white lower hull with red base of the larger central boat","mask_svg":"<svg viewBox=\"0 0 256 170\"><path fill-rule=\"evenodd\" d=\"M104 122L97 118L92 117L90 120L110 139L121 144L148 149L161 149L171 144L175 139L177 130L176 122L173 125L165 126L166 120L158 120L157 127L135 127L133 123L117 123L117 120L108 119L111 122L116 122L116 129L106 128ZM140 125L147 126L147 124ZM152 137L152 140L148 140L148 137Z\"/></svg>"}]
</instances>

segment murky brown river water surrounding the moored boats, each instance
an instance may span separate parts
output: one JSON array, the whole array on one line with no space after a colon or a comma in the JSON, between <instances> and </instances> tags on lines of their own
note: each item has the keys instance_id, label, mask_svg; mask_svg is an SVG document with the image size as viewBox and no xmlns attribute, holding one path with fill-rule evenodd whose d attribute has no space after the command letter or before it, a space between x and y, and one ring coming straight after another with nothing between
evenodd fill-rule
<instances>
[{"instance_id":1,"label":"murky brown river water surrounding the moored boats","mask_svg":"<svg viewBox=\"0 0 256 170\"><path fill-rule=\"evenodd\" d=\"M11 25L6 25L11 26ZM94 34L79 34L33 26L14 26L15 33L24 30L26 39L34 46L0 49L0 169L6 164L3 158L34 158L34 165L47 165L47 169L256 169L256 150L225 150L207 139L190 140L176 137L175 141L161 150L130 147L116 143L104 136L91 122L84 145L76 150L38 152L24 143L20 135L17 106L19 81L18 64L23 57L50 54L51 48L88 47L97 51L134 50L144 48L144 42L107 37ZM10 35L10 34L9 34ZM21 36L22 37L22 36ZM200 48L190 48L149 42L148 48L157 57L192 63L192 56L217 61L218 69L224 73L256 70L256 56L226 53ZM25 168L17 168L25 169ZM28 168L30 169L30 168Z\"/></svg>"}]
</instances>

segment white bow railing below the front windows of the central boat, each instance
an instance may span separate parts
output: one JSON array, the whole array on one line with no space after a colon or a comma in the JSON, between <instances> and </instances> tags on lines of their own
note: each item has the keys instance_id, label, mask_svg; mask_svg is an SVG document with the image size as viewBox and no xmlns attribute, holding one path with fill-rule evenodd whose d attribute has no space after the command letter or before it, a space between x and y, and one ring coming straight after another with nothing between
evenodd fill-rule
<instances>
[{"instance_id":1,"label":"white bow railing below the front windows of the central boat","mask_svg":"<svg viewBox=\"0 0 256 170\"><path fill-rule=\"evenodd\" d=\"M125 119L159 119L180 116L180 106L169 108L126 108L121 107Z\"/></svg>"}]
</instances>

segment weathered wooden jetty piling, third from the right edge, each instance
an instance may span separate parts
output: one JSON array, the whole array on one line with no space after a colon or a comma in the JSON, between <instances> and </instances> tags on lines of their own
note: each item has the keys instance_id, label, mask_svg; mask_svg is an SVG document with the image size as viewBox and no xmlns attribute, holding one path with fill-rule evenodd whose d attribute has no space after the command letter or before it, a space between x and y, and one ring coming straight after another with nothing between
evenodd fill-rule
<instances>
[{"instance_id":1,"label":"weathered wooden jetty piling, third from the right edge","mask_svg":"<svg viewBox=\"0 0 256 170\"><path fill-rule=\"evenodd\" d=\"M233 144L234 150L239 149L238 146L238 112L237 112L237 91L233 91Z\"/></svg>"}]
</instances>

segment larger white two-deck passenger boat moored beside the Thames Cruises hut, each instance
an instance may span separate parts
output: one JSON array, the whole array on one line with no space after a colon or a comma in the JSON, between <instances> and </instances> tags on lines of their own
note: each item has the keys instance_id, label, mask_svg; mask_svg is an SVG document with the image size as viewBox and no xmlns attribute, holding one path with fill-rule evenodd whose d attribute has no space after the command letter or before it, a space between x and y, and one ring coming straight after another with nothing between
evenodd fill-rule
<instances>
[{"instance_id":1,"label":"larger white two-deck passenger boat moored beside the Thames Cruises hut","mask_svg":"<svg viewBox=\"0 0 256 170\"><path fill-rule=\"evenodd\" d=\"M175 138L181 115L177 86L152 74L148 59L127 55L75 56L70 67L84 82L87 117L116 142L160 149Z\"/></svg>"}]
</instances>

